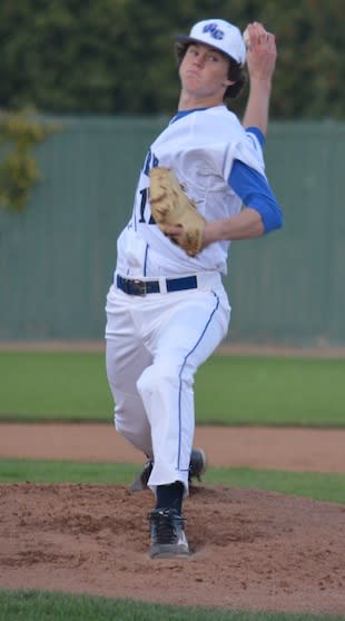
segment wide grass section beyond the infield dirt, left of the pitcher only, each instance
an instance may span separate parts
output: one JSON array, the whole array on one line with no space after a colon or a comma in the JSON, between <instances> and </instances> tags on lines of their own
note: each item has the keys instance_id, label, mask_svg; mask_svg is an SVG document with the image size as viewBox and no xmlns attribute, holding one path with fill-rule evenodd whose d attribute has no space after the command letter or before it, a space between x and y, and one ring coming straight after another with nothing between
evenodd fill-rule
<instances>
[{"instance_id":1,"label":"wide grass section beyond the infield dirt, left of the pitcher only","mask_svg":"<svg viewBox=\"0 0 345 621\"><path fill-rule=\"evenodd\" d=\"M0 369L1 420L111 420L100 353L0 352Z\"/></svg>"}]
</instances>

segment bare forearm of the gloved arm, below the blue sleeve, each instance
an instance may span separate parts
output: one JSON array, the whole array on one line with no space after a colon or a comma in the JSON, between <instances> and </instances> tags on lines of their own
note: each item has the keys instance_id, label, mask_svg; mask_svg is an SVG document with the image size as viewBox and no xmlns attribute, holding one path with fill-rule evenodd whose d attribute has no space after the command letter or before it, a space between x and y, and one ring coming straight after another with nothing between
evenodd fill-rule
<instances>
[{"instance_id":1,"label":"bare forearm of the gloved arm, below the blue sleeve","mask_svg":"<svg viewBox=\"0 0 345 621\"><path fill-rule=\"evenodd\" d=\"M264 231L263 219L258 211L245 207L230 218L208 221L204 230L204 247L214 241L253 239L264 235Z\"/></svg>"}]
</instances>

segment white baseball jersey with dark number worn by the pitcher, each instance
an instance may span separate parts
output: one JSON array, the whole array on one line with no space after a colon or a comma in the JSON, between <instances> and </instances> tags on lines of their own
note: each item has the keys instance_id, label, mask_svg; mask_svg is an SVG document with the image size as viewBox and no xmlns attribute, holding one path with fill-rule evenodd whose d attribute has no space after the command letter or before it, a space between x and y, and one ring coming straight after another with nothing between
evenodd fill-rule
<instances>
[{"instance_id":1,"label":"white baseball jersey with dark number worn by the pitcher","mask_svg":"<svg viewBox=\"0 0 345 621\"><path fill-rule=\"evenodd\" d=\"M188 112L174 120L146 157L128 227L118 240L118 270L139 276L174 276L227 269L229 241L214 243L197 257L172 244L152 223L148 200L149 170L171 168L186 194L207 220L240 211L241 200L228 185L234 159L264 175L262 147L226 106Z\"/></svg>"}]
</instances>

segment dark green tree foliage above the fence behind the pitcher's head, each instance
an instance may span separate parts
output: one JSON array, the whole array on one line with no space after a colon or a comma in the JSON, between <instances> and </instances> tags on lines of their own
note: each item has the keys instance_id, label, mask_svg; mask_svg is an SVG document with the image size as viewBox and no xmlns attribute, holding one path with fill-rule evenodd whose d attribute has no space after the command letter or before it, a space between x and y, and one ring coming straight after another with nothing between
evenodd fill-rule
<instances>
[{"instance_id":1,"label":"dark green tree foliage above the fence behind the pitcher's head","mask_svg":"<svg viewBox=\"0 0 345 621\"><path fill-rule=\"evenodd\" d=\"M345 117L344 0L1 0L0 108L170 114L174 36L209 17L275 32L273 118Z\"/></svg>"}]
</instances>

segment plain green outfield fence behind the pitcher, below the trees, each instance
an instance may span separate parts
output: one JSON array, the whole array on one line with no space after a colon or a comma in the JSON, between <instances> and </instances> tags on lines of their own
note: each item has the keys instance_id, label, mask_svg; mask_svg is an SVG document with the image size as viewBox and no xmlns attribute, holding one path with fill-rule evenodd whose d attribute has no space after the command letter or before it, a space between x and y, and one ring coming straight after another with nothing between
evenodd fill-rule
<instances>
[{"instance_id":1,"label":"plain green outfield fence behind the pitcher, below the trees","mask_svg":"<svg viewBox=\"0 0 345 621\"><path fill-rule=\"evenodd\" d=\"M102 338L116 238L166 120L58 119L36 151L41 181L27 209L0 211L0 341ZM231 246L231 342L345 345L344 159L345 124L270 125L266 165L285 227Z\"/></svg>"}]
</instances>

